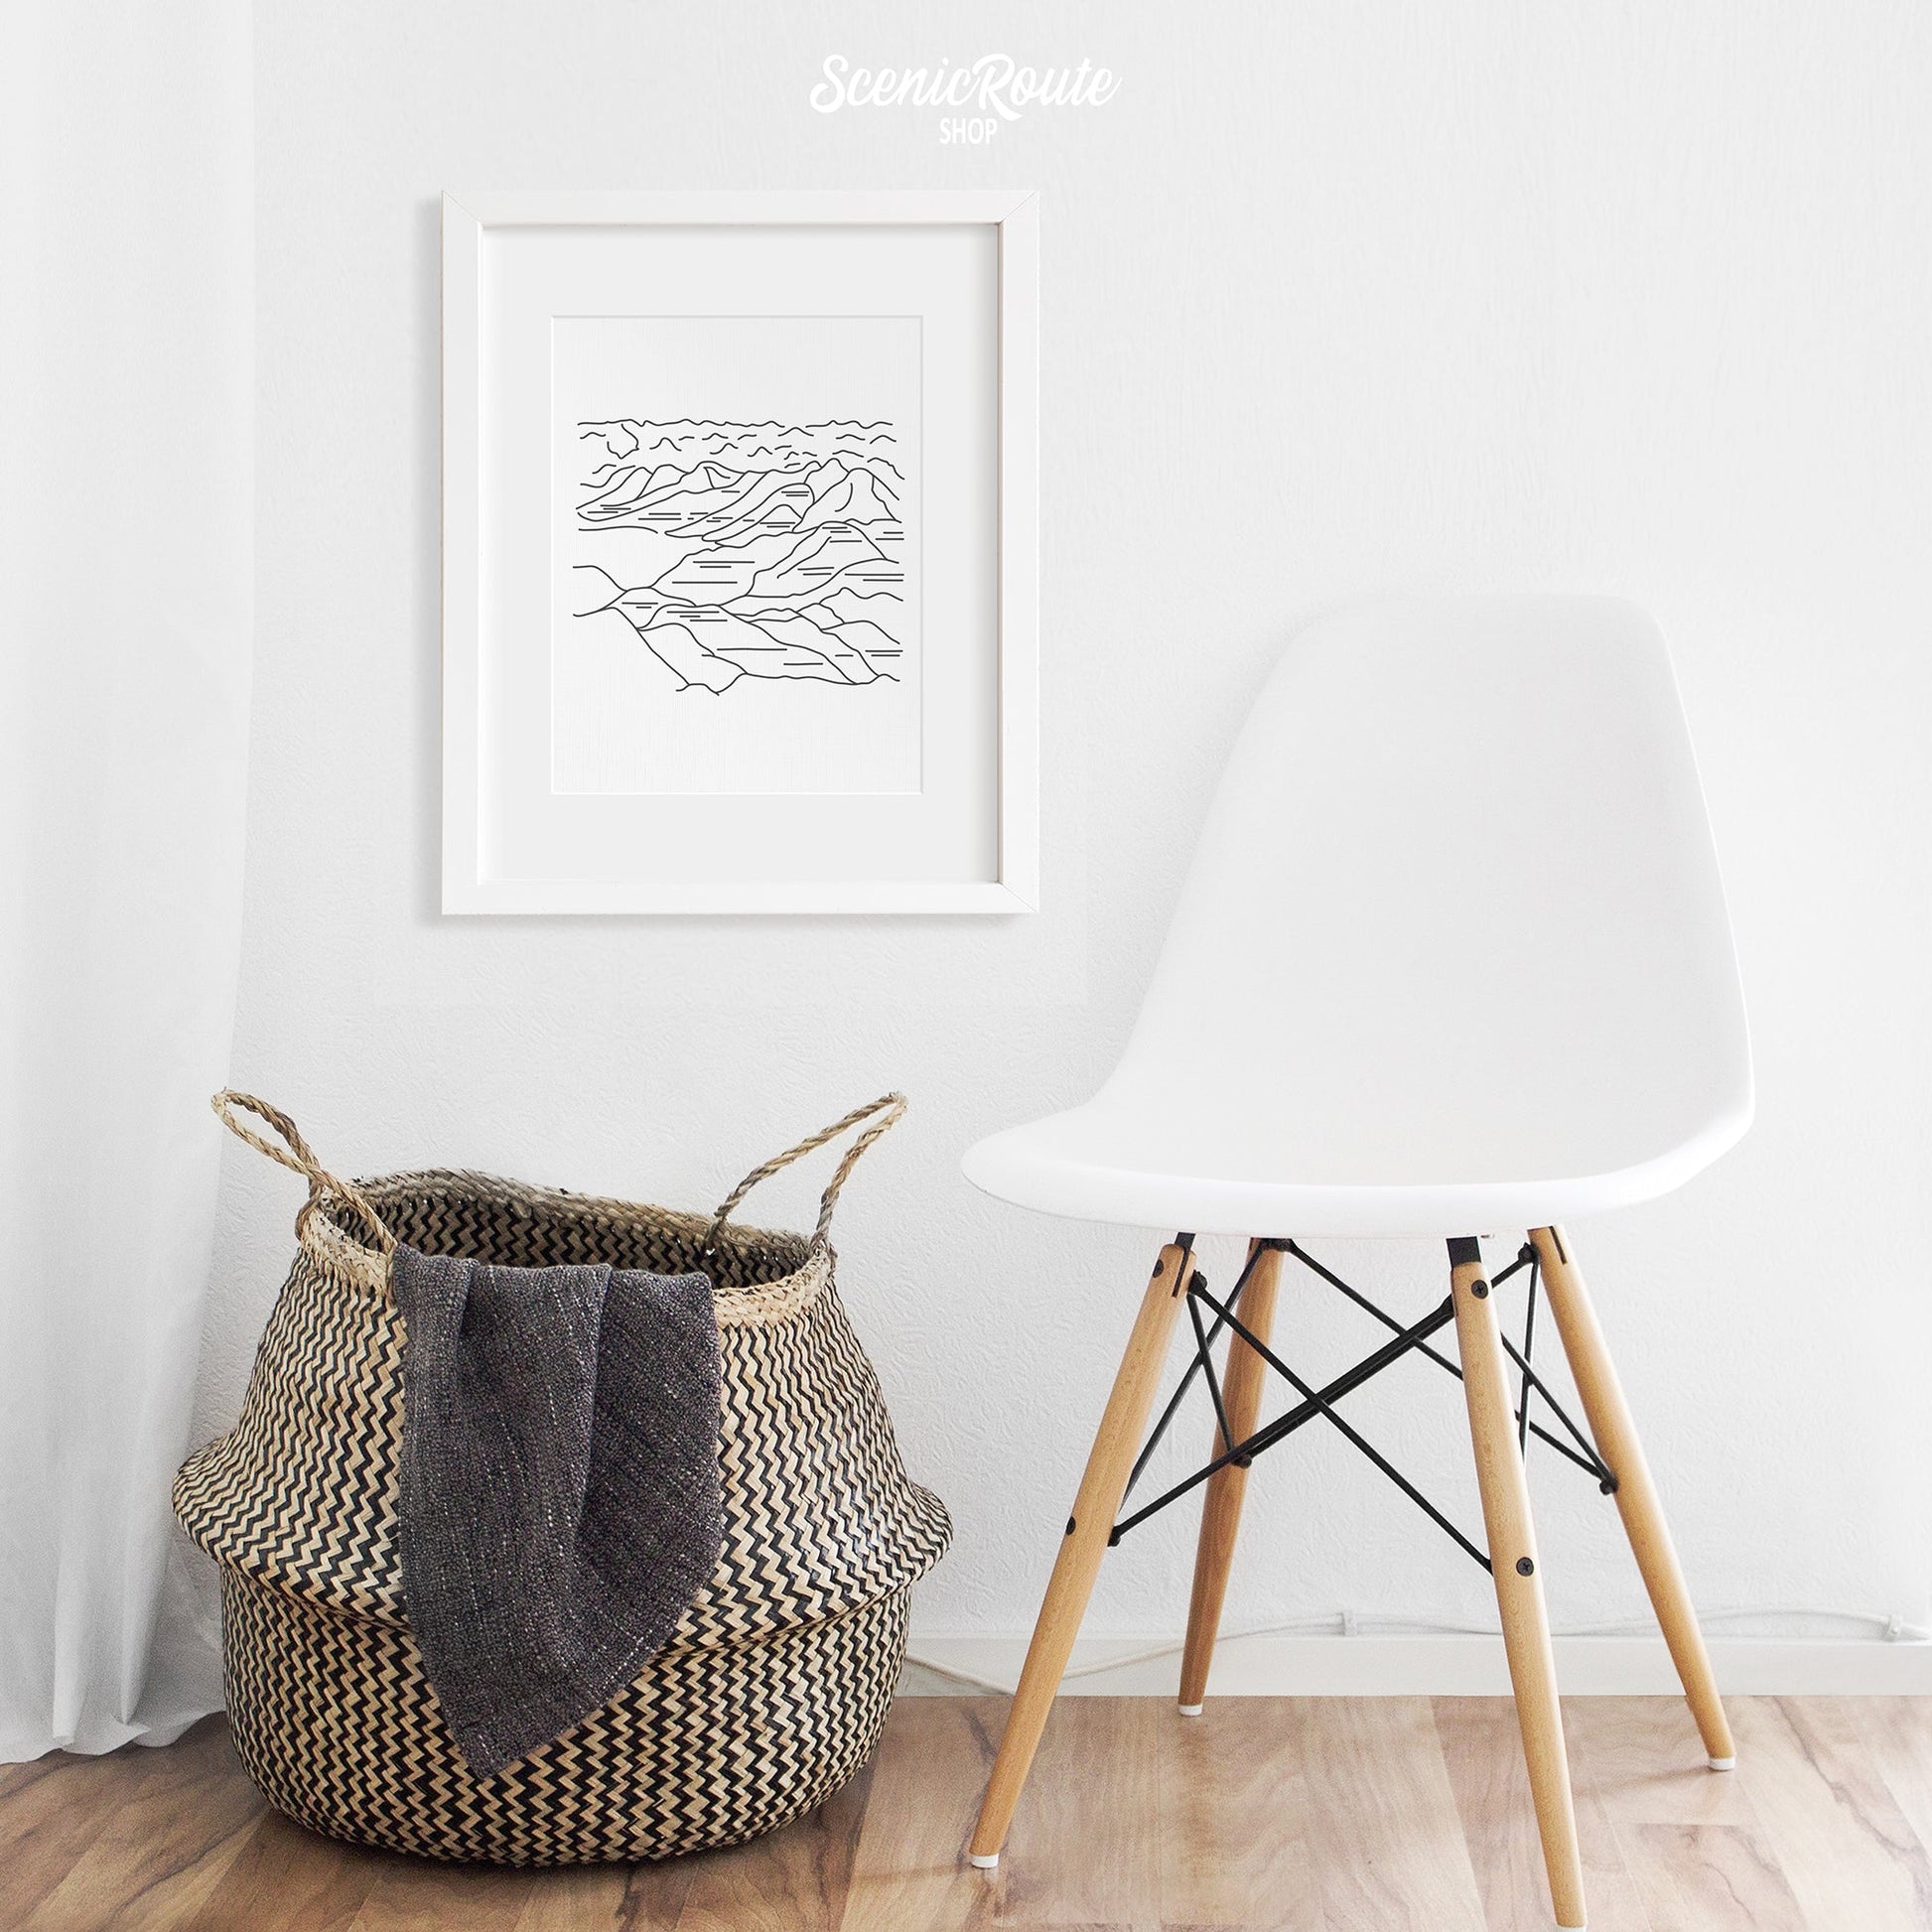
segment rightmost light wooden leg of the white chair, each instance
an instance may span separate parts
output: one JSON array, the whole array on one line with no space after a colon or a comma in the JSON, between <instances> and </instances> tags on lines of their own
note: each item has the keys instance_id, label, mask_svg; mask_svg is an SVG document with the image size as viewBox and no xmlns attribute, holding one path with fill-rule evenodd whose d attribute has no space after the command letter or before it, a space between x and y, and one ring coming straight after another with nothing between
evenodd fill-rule
<instances>
[{"instance_id":1,"label":"rightmost light wooden leg of the white chair","mask_svg":"<svg viewBox=\"0 0 1932 1932\"><path fill-rule=\"evenodd\" d=\"M1658 1503L1658 1488L1650 1480L1650 1464L1636 1439L1636 1428L1631 1422L1631 1408L1623 1399L1617 1370L1609 1360L1609 1349L1604 1347L1596 1308L1582 1285L1577 1250L1559 1227L1532 1229L1530 1240L1542 1262L1549 1314L1563 1337L1563 1352L1577 1378L1577 1393L1582 1397L1582 1412L1590 1418L1590 1434L1596 1437L1598 1453L1609 1464L1609 1472L1617 1478L1617 1513L1623 1517L1631 1553L1636 1557L1644 1588L1650 1592L1650 1605L1663 1627L1663 1642L1669 1644L1671 1662L1677 1665L1677 1677L1690 1704L1690 1716L1696 1718L1698 1733L1704 1739L1704 1754L1714 1772L1729 1772L1737 1764L1731 1723L1723 1714L1723 1700L1718 1696L1718 1679L1712 1675L1704 1633L1696 1627L1696 1611L1690 1607L1683 1571L1677 1567L1677 1551L1663 1520L1663 1507Z\"/></svg>"}]
</instances>

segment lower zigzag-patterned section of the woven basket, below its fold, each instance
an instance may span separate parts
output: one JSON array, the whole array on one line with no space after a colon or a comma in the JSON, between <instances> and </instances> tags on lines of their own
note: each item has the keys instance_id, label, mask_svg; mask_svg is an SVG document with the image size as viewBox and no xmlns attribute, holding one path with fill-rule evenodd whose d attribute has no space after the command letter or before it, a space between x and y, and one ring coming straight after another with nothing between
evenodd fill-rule
<instances>
[{"instance_id":1,"label":"lower zigzag-patterned section of the woven basket, below its fold","mask_svg":"<svg viewBox=\"0 0 1932 1932\"><path fill-rule=\"evenodd\" d=\"M427 1859L591 1864L734 1845L821 1804L879 1743L906 1592L726 1650L659 1652L583 1723L473 1777L408 1631L222 1578L236 1750L278 1810Z\"/></svg>"}]
</instances>

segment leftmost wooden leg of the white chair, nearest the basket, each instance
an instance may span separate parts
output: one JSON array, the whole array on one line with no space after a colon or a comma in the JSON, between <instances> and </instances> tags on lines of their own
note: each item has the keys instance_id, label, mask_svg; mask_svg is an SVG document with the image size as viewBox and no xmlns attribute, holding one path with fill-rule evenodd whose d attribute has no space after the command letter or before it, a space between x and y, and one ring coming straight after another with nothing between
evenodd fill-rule
<instances>
[{"instance_id":1,"label":"leftmost wooden leg of the white chair, nearest the basket","mask_svg":"<svg viewBox=\"0 0 1932 1932\"><path fill-rule=\"evenodd\" d=\"M1045 1729L1080 1619L1094 1594L1099 1559L1107 1553L1107 1538L1113 1534L1115 1513L1126 1493L1126 1478L1140 1451L1140 1432L1148 1426L1148 1410L1153 1406L1153 1391L1175 1333L1175 1316L1180 1312L1192 1273L1190 1250L1175 1244L1161 1248L1126 1354L1121 1356L1121 1370L1113 1378L1113 1395L1107 1397L1107 1412L1101 1416L1086 1474L1080 1478L1074 1513L1066 1519L1066 1534L1047 1582L1045 1602L1039 1605L1020 1687L1007 1712L1007 1731L999 1741L999 1756L993 1760L993 1776L987 1779L980 1822L972 1833L974 1864L999 1864L1012 1808L1020 1803L1020 1787L1032 1770L1039 1733Z\"/></svg>"}]
</instances>

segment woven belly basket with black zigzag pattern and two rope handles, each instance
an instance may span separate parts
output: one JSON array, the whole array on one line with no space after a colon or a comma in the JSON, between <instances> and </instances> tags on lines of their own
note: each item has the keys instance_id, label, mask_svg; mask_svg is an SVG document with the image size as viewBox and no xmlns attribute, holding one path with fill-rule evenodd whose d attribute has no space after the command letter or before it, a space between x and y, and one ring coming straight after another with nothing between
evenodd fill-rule
<instances>
[{"instance_id":1,"label":"woven belly basket with black zigzag pattern and two rope handles","mask_svg":"<svg viewBox=\"0 0 1932 1932\"><path fill-rule=\"evenodd\" d=\"M332 1837L578 1864L730 1845L846 1783L893 1698L910 1586L952 1534L941 1501L906 1480L827 1240L852 1163L904 1101L873 1101L767 1161L709 1219L483 1175L350 1184L272 1107L224 1094L216 1111L309 1182L242 1418L174 1488L184 1528L222 1565L228 1710L263 1795ZM862 1121L810 1240L726 1225L752 1184ZM703 1267L715 1287L717 1573L628 1689L489 1777L464 1764L402 1607L398 1240L498 1264Z\"/></svg>"}]
</instances>

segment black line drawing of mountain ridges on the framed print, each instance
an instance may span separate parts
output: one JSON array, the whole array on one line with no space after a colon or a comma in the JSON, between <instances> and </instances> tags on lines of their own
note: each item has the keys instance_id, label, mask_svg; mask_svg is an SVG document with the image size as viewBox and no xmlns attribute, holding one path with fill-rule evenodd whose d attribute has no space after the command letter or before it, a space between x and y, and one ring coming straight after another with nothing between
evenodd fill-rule
<instances>
[{"instance_id":1,"label":"black line drawing of mountain ridges on the framed print","mask_svg":"<svg viewBox=\"0 0 1932 1932\"><path fill-rule=\"evenodd\" d=\"M912 626L891 423L626 415L576 427L574 616L614 611L680 692L898 682ZM653 566L668 562L624 583L634 572L614 576L597 543L612 531L649 533Z\"/></svg>"}]
</instances>

